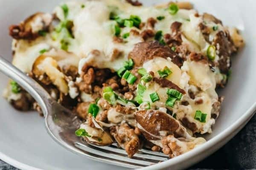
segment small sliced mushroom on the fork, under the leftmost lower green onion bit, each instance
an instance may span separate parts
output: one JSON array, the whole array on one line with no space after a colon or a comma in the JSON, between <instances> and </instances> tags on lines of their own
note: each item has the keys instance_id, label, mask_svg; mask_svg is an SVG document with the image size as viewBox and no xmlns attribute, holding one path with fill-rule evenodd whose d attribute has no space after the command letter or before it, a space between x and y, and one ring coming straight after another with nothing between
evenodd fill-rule
<instances>
[{"instance_id":1,"label":"small sliced mushroom on the fork, under the leftmost lower green onion bit","mask_svg":"<svg viewBox=\"0 0 256 170\"><path fill-rule=\"evenodd\" d=\"M89 122L93 125L90 125ZM87 121L80 125L80 129L86 130L89 136L84 136L84 140L91 144L96 144L99 146L106 146L113 143L113 139L106 132L93 117L89 117Z\"/></svg>"}]
</instances>

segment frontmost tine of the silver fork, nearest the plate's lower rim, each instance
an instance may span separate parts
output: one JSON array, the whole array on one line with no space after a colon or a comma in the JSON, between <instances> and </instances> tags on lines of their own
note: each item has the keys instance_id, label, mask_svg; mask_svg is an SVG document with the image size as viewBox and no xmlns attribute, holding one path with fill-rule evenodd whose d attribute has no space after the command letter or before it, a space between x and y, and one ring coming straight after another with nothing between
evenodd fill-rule
<instances>
[{"instance_id":1,"label":"frontmost tine of the silver fork, nearest the plate's lower rim","mask_svg":"<svg viewBox=\"0 0 256 170\"><path fill-rule=\"evenodd\" d=\"M102 150L101 147L97 147L97 149L94 149L92 145L87 145L87 144L81 144L76 142L75 146L78 147L79 149L85 150L89 153L93 153L94 155L99 155L103 157L107 157L110 159L114 160L119 160L119 161L125 161L137 165L142 165L142 166L149 166L151 164L155 164L158 161L152 161L152 160L146 160L146 159L136 159L136 158L128 158L127 156L123 156L122 154L119 153L112 153L112 152L104 152L105 150Z\"/></svg>"}]
</instances>

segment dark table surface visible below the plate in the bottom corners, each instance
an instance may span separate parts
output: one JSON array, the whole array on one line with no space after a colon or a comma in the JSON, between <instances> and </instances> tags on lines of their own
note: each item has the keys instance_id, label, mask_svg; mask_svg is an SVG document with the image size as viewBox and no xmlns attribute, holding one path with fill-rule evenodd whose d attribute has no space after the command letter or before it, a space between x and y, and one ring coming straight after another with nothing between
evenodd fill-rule
<instances>
[{"instance_id":1,"label":"dark table surface visible below the plate in the bottom corners","mask_svg":"<svg viewBox=\"0 0 256 170\"><path fill-rule=\"evenodd\" d=\"M189 169L256 169L256 115L224 147ZM17 170L0 160L0 170Z\"/></svg>"}]
</instances>

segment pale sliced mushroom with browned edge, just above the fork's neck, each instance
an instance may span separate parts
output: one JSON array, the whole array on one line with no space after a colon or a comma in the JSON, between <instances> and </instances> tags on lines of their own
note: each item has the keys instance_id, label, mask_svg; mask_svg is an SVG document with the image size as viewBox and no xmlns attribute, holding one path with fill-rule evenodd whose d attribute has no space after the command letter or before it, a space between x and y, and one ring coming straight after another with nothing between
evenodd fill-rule
<instances>
[{"instance_id":1,"label":"pale sliced mushroom with browned edge, just above the fork's neck","mask_svg":"<svg viewBox=\"0 0 256 170\"><path fill-rule=\"evenodd\" d=\"M62 93L68 93L68 85L64 79L65 75L58 70L58 63L55 59L45 55L39 56L33 64L32 72L39 80L43 79L42 77L46 74L52 84L56 85Z\"/></svg>"}]
</instances>

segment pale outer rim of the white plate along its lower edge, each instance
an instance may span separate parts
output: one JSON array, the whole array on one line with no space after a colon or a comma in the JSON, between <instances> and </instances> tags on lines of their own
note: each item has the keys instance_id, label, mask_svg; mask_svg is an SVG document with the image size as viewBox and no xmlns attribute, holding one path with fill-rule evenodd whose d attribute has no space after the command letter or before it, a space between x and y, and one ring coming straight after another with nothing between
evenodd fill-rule
<instances>
[{"instance_id":1,"label":"pale outer rim of the white plate along its lower edge","mask_svg":"<svg viewBox=\"0 0 256 170\"><path fill-rule=\"evenodd\" d=\"M208 152L205 153L204 156L201 156L200 158L198 157L198 159L192 163L192 164L195 164L198 161L200 161L201 159L204 159L205 157L209 156L215 150L218 150L221 146L223 146L230 139L232 139L233 136L235 136L247 124L247 122L253 117L255 112L256 112L256 102L254 102L253 105L250 106L250 108L247 109L247 111L245 111L244 114L239 119L237 119L236 122L234 122L230 127L223 130L217 136L213 137L212 139L210 139L206 143L202 144L201 146L198 146L198 147L194 148L193 150L190 150L189 152L184 153L180 156L169 159L168 161L163 161L161 163L154 164L154 165L151 165L148 167L143 167L138 170L155 170L156 168L163 169L166 167L170 167L170 166L178 164L182 161L188 160L189 158L192 158L193 156L198 155L198 154L204 152L205 150L207 150ZM229 139L224 139L227 137L229 137ZM217 143L220 141L224 141L224 142L217 145ZM7 164L10 164L20 170L44 170L44 169L39 169L37 167L30 166L28 164L24 164L20 161L17 161L16 159L6 156L6 154L4 154L2 152L0 152L0 159L2 161L6 162ZM181 165L181 167L179 167L179 169L182 167L186 167L186 166L187 165Z\"/></svg>"}]
</instances>

